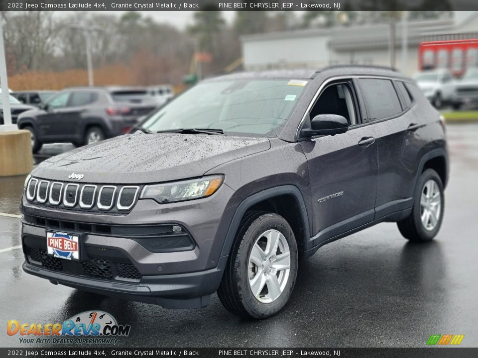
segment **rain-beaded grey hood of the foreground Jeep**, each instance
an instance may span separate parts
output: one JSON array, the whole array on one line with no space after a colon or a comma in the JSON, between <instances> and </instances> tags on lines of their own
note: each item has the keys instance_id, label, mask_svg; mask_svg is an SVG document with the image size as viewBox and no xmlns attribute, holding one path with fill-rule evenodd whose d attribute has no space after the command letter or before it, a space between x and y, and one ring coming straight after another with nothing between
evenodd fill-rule
<instances>
[{"instance_id":1,"label":"rain-beaded grey hood of the foreground Jeep","mask_svg":"<svg viewBox=\"0 0 478 358\"><path fill-rule=\"evenodd\" d=\"M201 177L228 161L270 148L266 138L207 134L129 134L77 148L40 163L34 177L60 181L150 183Z\"/></svg>"}]
</instances>

